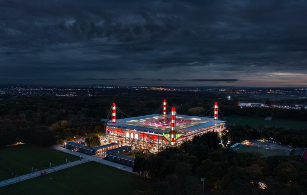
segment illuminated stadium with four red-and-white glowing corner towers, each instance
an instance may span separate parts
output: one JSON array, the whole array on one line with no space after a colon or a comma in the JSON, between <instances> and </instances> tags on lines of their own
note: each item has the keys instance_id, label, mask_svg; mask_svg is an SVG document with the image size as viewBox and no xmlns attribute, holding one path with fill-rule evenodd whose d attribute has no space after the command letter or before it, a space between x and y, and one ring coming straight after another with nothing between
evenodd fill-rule
<instances>
[{"instance_id":1,"label":"illuminated stadium with four red-and-white glowing corner towers","mask_svg":"<svg viewBox=\"0 0 307 195\"><path fill-rule=\"evenodd\" d=\"M162 106L163 114L116 119L117 108L113 103L110 112L112 120L106 124L109 142L157 152L167 146L179 146L195 136L225 129L225 121L217 120L217 103L212 108L214 118L177 115L175 108L172 108L171 114L166 114L166 101Z\"/></svg>"}]
</instances>

